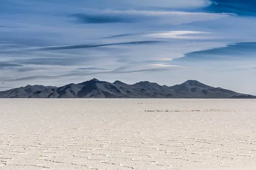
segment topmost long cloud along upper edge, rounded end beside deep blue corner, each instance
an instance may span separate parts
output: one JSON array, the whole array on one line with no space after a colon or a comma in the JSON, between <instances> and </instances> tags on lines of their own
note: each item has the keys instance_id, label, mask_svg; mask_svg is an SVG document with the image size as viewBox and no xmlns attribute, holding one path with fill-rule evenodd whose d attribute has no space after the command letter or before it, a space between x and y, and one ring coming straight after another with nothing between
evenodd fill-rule
<instances>
[{"instance_id":1,"label":"topmost long cloud along upper edge, rounded end beside deep blue corner","mask_svg":"<svg viewBox=\"0 0 256 170\"><path fill-rule=\"evenodd\" d=\"M0 6L0 12L9 12L12 10L19 12L54 12L58 5L58 11L77 10L78 7L86 6L88 8L148 8L148 7L162 7L162 8L203 8L209 6L212 2L210 0L47 0L34 2L32 0L8 0L3 2ZM9 10L8 10L9 9ZM12 9L12 10L11 10Z\"/></svg>"}]
</instances>

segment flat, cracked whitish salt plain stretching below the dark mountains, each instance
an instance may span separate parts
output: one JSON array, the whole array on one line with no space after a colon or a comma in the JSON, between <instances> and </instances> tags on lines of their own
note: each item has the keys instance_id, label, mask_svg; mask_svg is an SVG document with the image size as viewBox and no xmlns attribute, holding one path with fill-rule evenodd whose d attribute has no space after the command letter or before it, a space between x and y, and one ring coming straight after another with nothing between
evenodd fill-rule
<instances>
[{"instance_id":1,"label":"flat, cracked whitish salt plain stretching below the dark mountains","mask_svg":"<svg viewBox=\"0 0 256 170\"><path fill-rule=\"evenodd\" d=\"M0 99L0 170L256 170L256 101Z\"/></svg>"}]
</instances>

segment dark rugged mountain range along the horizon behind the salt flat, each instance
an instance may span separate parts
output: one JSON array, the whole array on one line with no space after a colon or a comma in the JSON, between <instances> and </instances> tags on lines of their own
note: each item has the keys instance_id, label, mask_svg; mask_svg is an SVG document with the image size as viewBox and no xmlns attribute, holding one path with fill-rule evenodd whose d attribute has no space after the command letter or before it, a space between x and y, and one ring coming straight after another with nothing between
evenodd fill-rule
<instances>
[{"instance_id":1,"label":"dark rugged mountain range along the horizon behind the salt flat","mask_svg":"<svg viewBox=\"0 0 256 170\"><path fill-rule=\"evenodd\" d=\"M256 96L240 94L223 88L214 88L196 80L180 85L166 86L152 82L128 85L91 79L79 84L62 87L27 85L8 91L0 91L0 98L195 98L195 99L256 99Z\"/></svg>"}]
</instances>

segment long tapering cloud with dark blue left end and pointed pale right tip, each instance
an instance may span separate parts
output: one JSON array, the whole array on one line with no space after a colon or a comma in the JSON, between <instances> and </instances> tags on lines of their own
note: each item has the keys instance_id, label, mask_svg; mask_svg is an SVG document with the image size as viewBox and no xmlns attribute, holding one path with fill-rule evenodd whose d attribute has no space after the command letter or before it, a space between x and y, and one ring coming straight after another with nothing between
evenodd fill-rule
<instances>
[{"instance_id":1,"label":"long tapering cloud with dark blue left end and pointed pale right tip","mask_svg":"<svg viewBox=\"0 0 256 170\"><path fill-rule=\"evenodd\" d=\"M72 15L79 23L147 23L179 25L197 21L216 20L230 17L230 14L187 12L187 11L159 11L159 10L90 10L84 14Z\"/></svg>"}]
</instances>

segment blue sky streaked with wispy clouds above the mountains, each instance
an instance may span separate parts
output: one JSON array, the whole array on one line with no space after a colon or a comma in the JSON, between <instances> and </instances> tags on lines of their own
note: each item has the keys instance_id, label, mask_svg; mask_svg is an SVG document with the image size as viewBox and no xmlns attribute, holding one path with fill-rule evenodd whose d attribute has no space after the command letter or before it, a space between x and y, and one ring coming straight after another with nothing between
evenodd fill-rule
<instances>
[{"instance_id":1,"label":"blue sky streaked with wispy clouds above the mountains","mask_svg":"<svg viewBox=\"0 0 256 170\"><path fill-rule=\"evenodd\" d=\"M255 0L0 0L0 91L188 79L256 95Z\"/></svg>"}]
</instances>

